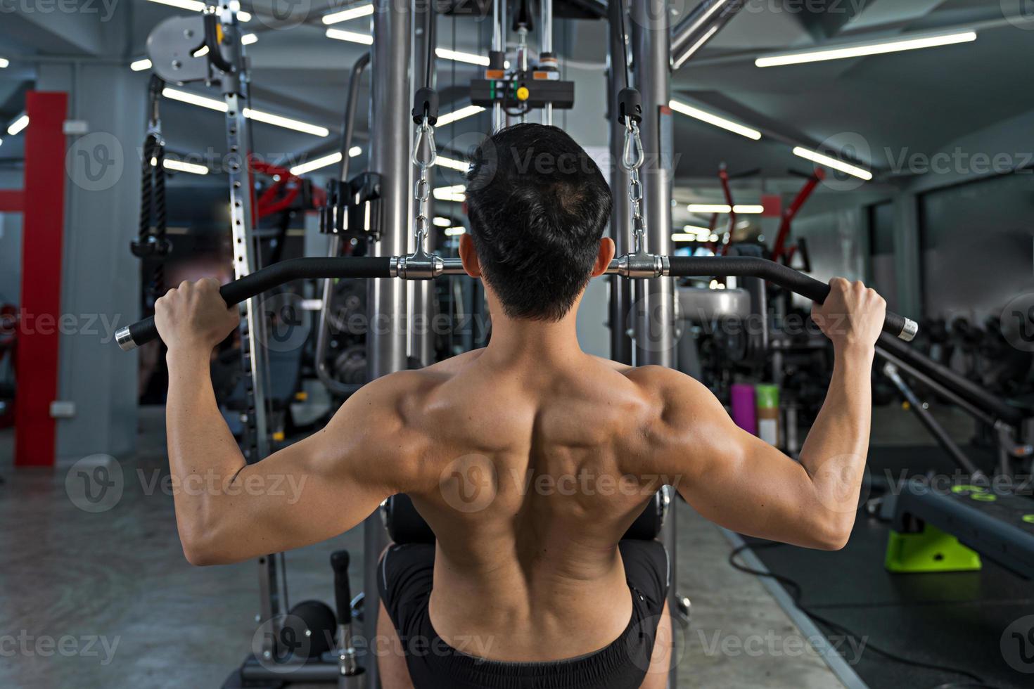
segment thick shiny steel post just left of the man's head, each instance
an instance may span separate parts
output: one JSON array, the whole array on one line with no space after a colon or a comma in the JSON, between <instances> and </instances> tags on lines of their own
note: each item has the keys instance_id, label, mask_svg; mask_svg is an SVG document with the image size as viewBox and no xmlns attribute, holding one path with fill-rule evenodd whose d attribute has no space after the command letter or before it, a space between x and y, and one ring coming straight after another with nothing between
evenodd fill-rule
<instances>
[{"instance_id":1,"label":"thick shiny steel post just left of the man's head","mask_svg":"<svg viewBox=\"0 0 1034 689\"><path fill-rule=\"evenodd\" d=\"M404 254L410 229L409 139L409 58L413 7L409 2L374 0L373 58L370 63L370 169L382 176L381 240L373 254ZM370 280L367 286L369 327L366 335L367 376L370 380L405 369L406 285L401 280ZM363 591L365 615L363 632L367 641L376 636L377 557L387 543L381 516L373 513L363 525ZM375 659L367 657L368 686L377 686Z\"/></svg>"}]
</instances>

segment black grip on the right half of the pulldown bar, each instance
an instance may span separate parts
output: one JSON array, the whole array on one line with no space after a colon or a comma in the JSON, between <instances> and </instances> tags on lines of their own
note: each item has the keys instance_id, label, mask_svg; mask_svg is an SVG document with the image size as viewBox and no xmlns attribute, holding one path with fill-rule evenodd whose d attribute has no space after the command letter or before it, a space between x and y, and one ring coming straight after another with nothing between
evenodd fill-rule
<instances>
[{"instance_id":1,"label":"black grip on the right half of the pulldown bar","mask_svg":"<svg viewBox=\"0 0 1034 689\"><path fill-rule=\"evenodd\" d=\"M829 285L792 268L754 256L672 256L670 275L676 278L732 276L763 278L792 292L822 304L829 296ZM887 312L883 332L898 338L905 332L906 318Z\"/></svg>"}]
</instances>

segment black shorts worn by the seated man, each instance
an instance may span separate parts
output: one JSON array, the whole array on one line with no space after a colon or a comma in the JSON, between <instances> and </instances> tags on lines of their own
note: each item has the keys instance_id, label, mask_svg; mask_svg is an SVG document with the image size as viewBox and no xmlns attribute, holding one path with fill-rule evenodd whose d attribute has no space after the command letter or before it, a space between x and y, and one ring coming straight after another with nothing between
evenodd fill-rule
<instances>
[{"instance_id":1,"label":"black shorts worn by the seated man","mask_svg":"<svg viewBox=\"0 0 1034 689\"><path fill-rule=\"evenodd\" d=\"M377 588L405 651L416 689L633 689L649 668L668 595L668 556L653 540L622 540L632 619L613 644L585 656L551 662L499 662L447 645L431 626L428 601L434 545L392 545L381 559ZM601 604L606 604L601 601ZM474 649L469 649L474 650Z\"/></svg>"}]
</instances>

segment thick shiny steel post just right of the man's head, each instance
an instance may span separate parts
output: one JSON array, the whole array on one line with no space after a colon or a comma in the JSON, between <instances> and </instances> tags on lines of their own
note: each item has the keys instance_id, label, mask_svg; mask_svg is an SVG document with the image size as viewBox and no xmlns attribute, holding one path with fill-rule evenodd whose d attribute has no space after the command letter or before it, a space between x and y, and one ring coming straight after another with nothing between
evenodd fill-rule
<instances>
[{"instance_id":1,"label":"thick shiny steel post just right of the man's head","mask_svg":"<svg viewBox=\"0 0 1034 689\"><path fill-rule=\"evenodd\" d=\"M632 65L635 86L642 96L640 125L645 161L643 216L646 219L646 250L671 254L672 131L668 107L671 64L671 27L668 0L633 0L631 3ZM671 278L636 280L635 355L636 365L675 366L675 300ZM678 614L677 550L674 504L661 531L668 550L671 581L668 606ZM674 624L673 627L674 629ZM668 686L677 686L677 668L672 667Z\"/></svg>"}]
</instances>

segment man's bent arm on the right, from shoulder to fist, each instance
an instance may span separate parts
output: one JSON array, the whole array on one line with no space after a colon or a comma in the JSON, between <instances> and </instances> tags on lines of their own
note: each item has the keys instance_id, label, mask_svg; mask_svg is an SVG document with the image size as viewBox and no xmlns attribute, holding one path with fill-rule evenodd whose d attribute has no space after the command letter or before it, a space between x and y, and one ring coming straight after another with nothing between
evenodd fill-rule
<instances>
[{"instance_id":1,"label":"man's bent arm on the right, from shoulder to fist","mask_svg":"<svg viewBox=\"0 0 1034 689\"><path fill-rule=\"evenodd\" d=\"M706 519L733 531L807 547L843 547L851 533L869 447L871 369L885 304L861 283L833 280L813 311L833 341L826 400L794 462L733 424L710 390L667 369L663 413L649 440L665 471Z\"/></svg>"}]
</instances>

